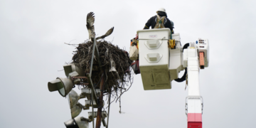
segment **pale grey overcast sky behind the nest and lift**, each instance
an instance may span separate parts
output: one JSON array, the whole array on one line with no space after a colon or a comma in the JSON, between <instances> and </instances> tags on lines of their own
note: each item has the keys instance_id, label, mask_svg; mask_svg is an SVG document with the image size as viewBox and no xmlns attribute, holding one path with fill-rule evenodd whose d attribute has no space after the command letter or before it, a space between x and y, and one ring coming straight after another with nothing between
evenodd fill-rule
<instances>
[{"instance_id":1,"label":"pale grey overcast sky behind the nest and lift","mask_svg":"<svg viewBox=\"0 0 256 128\"><path fill-rule=\"evenodd\" d=\"M0 0L1 127L65 127L71 118L68 100L49 92L47 82L65 77L58 70L70 62L75 47L64 43L88 38L87 13L95 12L98 36L114 26L105 40L129 50L130 39L160 7L174 21L182 44L210 42L210 65L200 72L203 127L253 127L255 6L250 0ZM125 113L119 114L119 103L111 106L110 127L186 127L184 88L185 82L173 81L171 90L144 91L141 76L134 75L122 97Z\"/></svg>"}]
</instances>

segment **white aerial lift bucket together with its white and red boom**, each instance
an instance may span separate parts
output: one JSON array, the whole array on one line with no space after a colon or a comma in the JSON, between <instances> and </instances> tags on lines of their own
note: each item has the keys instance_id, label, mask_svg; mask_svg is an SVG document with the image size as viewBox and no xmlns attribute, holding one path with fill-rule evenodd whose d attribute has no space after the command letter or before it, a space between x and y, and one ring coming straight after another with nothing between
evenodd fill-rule
<instances>
[{"instance_id":1,"label":"white aerial lift bucket together with its white and red boom","mask_svg":"<svg viewBox=\"0 0 256 128\"><path fill-rule=\"evenodd\" d=\"M188 128L202 127L203 97L200 95L199 70L208 67L208 39L181 46L179 33L169 28L137 31L139 36L139 68L144 90L171 89L171 81L186 80L186 115ZM171 44L172 43L172 44ZM186 70L182 78L178 73Z\"/></svg>"}]
</instances>

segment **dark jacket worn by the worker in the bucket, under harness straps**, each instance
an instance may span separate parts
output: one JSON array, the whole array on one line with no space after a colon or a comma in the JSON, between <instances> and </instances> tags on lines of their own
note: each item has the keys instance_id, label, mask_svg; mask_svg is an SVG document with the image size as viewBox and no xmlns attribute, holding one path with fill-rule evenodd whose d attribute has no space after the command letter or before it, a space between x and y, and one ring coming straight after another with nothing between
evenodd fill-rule
<instances>
[{"instance_id":1,"label":"dark jacket worn by the worker in the bucket, under harness straps","mask_svg":"<svg viewBox=\"0 0 256 128\"><path fill-rule=\"evenodd\" d=\"M159 16L166 16L163 14L158 14ZM152 16L151 18L149 18L149 21L146 22L144 29L149 29L149 27L151 26L151 28L154 28L156 26L156 21L157 21L157 16ZM169 20L169 18L164 18L164 27L165 28L170 28L171 33L174 33L174 23L172 21Z\"/></svg>"}]
</instances>

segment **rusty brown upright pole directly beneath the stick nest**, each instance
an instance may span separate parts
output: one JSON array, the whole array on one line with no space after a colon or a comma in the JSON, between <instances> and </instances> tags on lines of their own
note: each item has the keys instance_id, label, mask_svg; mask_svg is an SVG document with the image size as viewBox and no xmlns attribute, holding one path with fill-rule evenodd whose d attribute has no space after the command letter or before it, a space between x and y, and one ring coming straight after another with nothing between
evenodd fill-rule
<instances>
[{"instance_id":1,"label":"rusty brown upright pole directly beneath the stick nest","mask_svg":"<svg viewBox=\"0 0 256 128\"><path fill-rule=\"evenodd\" d=\"M102 80L100 81L100 100L98 104L98 109L97 109L97 119L96 119L96 127L95 128L100 128L101 121L102 121L102 107L103 107L103 90L105 89L105 72L103 75Z\"/></svg>"}]
</instances>

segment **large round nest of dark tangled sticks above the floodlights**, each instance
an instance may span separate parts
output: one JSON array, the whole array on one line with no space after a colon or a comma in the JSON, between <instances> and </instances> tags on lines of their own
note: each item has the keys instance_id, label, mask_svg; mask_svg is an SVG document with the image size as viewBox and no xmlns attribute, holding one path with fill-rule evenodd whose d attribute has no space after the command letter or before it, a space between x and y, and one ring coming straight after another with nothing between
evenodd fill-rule
<instances>
[{"instance_id":1,"label":"large round nest of dark tangled sticks above the floodlights","mask_svg":"<svg viewBox=\"0 0 256 128\"><path fill-rule=\"evenodd\" d=\"M86 73L90 73L90 63L92 59L92 41L85 41L80 43L73 55L73 62L78 68L82 68ZM116 100L129 90L132 85L132 60L129 59L127 51L120 49L118 46L114 46L107 41L97 41L97 48L100 54L100 61L102 63L102 69L106 70L105 75L105 90L104 94L107 95L111 92L112 97ZM100 80L102 73L100 66L98 65L97 58L94 56L92 66L92 82L95 88L100 87Z\"/></svg>"}]
</instances>

